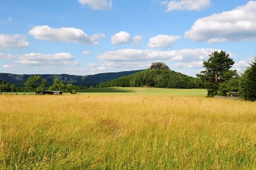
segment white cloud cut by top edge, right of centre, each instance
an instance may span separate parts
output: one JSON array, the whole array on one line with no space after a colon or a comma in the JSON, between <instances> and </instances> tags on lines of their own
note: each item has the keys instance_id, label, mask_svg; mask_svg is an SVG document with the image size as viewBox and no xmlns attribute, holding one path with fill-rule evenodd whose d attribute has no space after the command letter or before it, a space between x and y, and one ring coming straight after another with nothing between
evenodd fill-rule
<instances>
[{"instance_id":1,"label":"white cloud cut by top edge, right of centre","mask_svg":"<svg viewBox=\"0 0 256 170\"><path fill-rule=\"evenodd\" d=\"M160 2L161 6L166 6L166 11L202 11L211 5L210 0L165 0Z\"/></svg>"}]
</instances>

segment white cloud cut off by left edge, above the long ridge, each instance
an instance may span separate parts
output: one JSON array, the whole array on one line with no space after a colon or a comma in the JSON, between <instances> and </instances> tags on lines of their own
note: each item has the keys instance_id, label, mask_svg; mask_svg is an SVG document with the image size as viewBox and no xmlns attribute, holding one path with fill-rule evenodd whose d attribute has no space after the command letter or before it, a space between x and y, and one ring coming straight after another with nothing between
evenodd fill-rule
<instances>
[{"instance_id":1,"label":"white cloud cut off by left edge, above the long ridge","mask_svg":"<svg viewBox=\"0 0 256 170\"><path fill-rule=\"evenodd\" d=\"M28 48L28 47L29 47L29 43L26 42L26 35L0 34L0 49Z\"/></svg>"}]
</instances>

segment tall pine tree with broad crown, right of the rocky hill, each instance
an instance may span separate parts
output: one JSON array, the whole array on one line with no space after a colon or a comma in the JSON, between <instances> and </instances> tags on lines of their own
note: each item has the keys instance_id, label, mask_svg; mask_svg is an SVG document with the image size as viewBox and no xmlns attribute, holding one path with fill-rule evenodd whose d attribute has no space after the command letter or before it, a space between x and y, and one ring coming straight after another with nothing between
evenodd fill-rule
<instances>
[{"instance_id":1,"label":"tall pine tree with broad crown, right of the rocky hill","mask_svg":"<svg viewBox=\"0 0 256 170\"><path fill-rule=\"evenodd\" d=\"M204 61L205 70L201 71L201 74L197 74L197 77L207 88L208 97L218 95L221 83L229 81L236 75L236 70L230 70L234 63L229 54L222 50L213 52L209 55L208 61Z\"/></svg>"}]
</instances>

